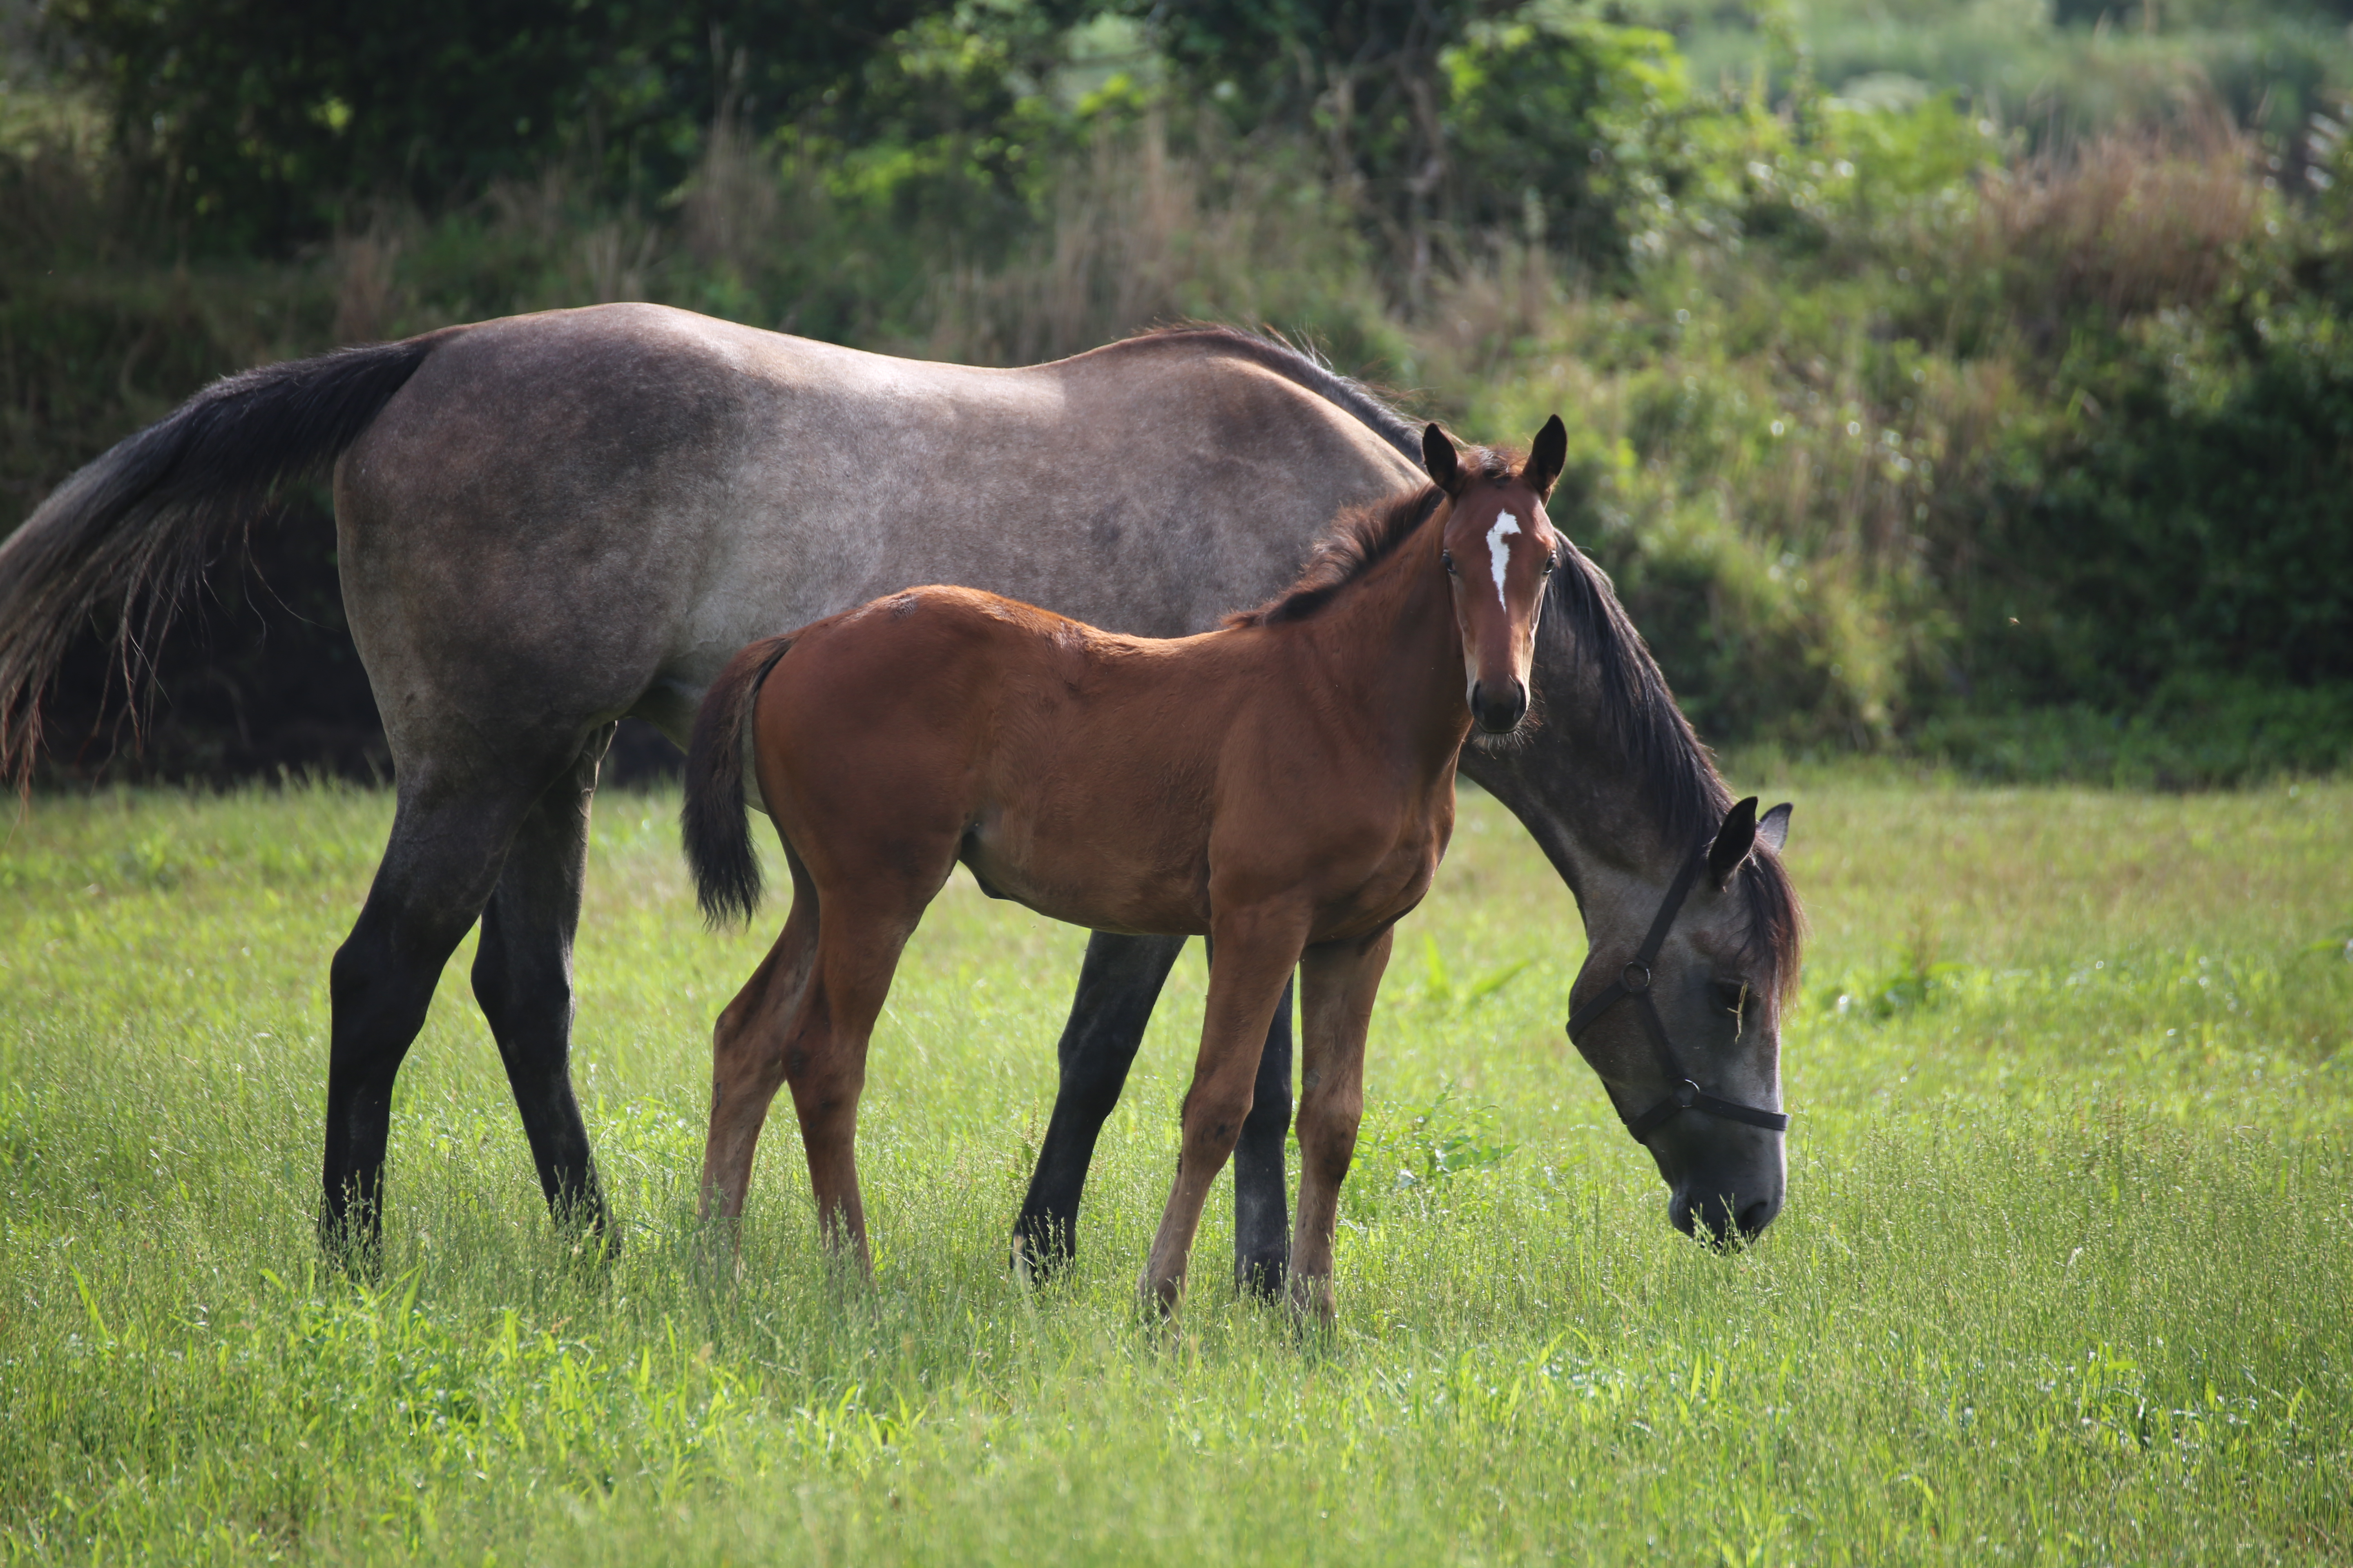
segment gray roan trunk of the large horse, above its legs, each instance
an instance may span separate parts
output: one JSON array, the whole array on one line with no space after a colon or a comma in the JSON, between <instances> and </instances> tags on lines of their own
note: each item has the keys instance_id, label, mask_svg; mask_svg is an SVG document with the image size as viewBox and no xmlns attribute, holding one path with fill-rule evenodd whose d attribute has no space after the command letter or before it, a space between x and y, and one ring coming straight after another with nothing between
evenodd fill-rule
<instances>
[{"instance_id":1,"label":"gray roan trunk of the large horse, above its legs","mask_svg":"<svg viewBox=\"0 0 2353 1568\"><path fill-rule=\"evenodd\" d=\"M440 708L682 736L751 637L911 581L1144 635L1280 588L1384 435L1219 339L1028 369L868 355L661 306L482 322L336 475L395 757Z\"/></svg>"}]
</instances>

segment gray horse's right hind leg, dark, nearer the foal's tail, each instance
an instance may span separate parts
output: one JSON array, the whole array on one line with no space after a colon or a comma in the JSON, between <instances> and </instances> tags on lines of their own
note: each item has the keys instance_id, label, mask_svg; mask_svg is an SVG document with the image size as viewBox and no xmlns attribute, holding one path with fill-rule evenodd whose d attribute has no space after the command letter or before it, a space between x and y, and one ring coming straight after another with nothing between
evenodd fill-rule
<instances>
[{"instance_id":1,"label":"gray horse's right hind leg, dark, nearer the foal's tail","mask_svg":"<svg viewBox=\"0 0 2353 1568\"><path fill-rule=\"evenodd\" d=\"M612 1244L588 1128L572 1095L572 933L588 856L588 799L612 743L598 729L515 830L473 959L473 994L506 1060L506 1081L539 1166L539 1190L562 1220L586 1220Z\"/></svg>"}]
</instances>

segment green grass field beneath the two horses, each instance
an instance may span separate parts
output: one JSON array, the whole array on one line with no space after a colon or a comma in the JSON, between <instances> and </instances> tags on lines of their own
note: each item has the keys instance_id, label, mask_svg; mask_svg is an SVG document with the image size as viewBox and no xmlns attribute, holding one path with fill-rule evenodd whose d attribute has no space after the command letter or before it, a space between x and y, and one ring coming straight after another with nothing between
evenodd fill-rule
<instances>
[{"instance_id":1,"label":"green grass field beneath the two horses","mask_svg":"<svg viewBox=\"0 0 2353 1568\"><path fill-rule=\"evenodd\" d=\"M2346 1561L2353 785L1802 776L1791 1201L1673 1234L1567 1051L1581 954L1464 799L1374 1018L1339 1335L1132 1284L1188 954L1075 1276L1002 1239L1080 933L958 882L875 1039L871 1288L769 1124L741 1276L692 1225L708 936L671 797L600 802L576 1077L628 1246L548 1225L445 980L386 1267L311 1239L327 954L381 795L38 799L0 849L0 1554L71 1561Z\"/></svg>"}]
</instances>

